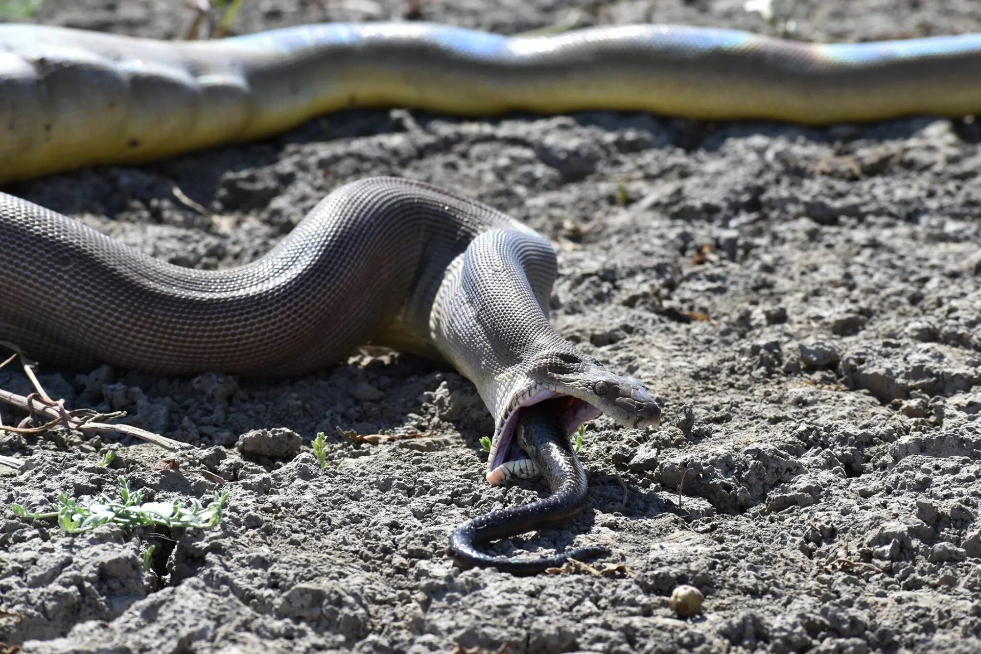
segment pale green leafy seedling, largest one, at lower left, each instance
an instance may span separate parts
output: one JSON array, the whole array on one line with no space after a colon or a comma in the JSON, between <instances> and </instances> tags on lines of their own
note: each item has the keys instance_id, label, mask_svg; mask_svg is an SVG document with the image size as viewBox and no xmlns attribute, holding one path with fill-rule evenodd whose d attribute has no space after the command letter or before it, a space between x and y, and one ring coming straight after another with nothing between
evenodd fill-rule
<instances>
[{"instance_id":1,"label":"pale green leafy seedling, largest one, at lower left","mask_svg":"<svg viewBox=\"0 0 981 654\"><path fill-rule=\"evenodd\" d=\"M92 499L75 499L65 493L49 511L29 512L20 504L11 504L14 515L20 518L45 520L57 518L58 525L69 533L87 531L112 523L124 530L134 527L212 528L222 522L222 508L229 498L229 491L215 493L214 499L204 506L196 499L184 502L143 502L143 491L129 488L129 481L120 477L120 500L99 495Z\"/></svg>"}]
</instances>

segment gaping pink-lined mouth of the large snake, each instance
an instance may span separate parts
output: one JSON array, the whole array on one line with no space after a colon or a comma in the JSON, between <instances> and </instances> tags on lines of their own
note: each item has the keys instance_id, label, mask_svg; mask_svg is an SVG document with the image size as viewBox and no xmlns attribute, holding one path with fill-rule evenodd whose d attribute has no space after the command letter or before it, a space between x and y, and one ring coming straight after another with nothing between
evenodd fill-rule
<instances>
[{"instance_id":1,"label":"gaping pink-lined mouth of the large snake","mask_svg":"<svg viewBox=\"0 0 981 654\"><path fill-rule=\"evenodd\" d=\"M538 471L532 460L518 445L515 429L521 418L521 410L551 400L558 411L566 435L573 434L583 423L593 420L602 412L585 400L546 388L535 387L516 395L497 424L490 445L487 479L497 485L511 478L532 477Z\"/></svg>"}]
</instances>

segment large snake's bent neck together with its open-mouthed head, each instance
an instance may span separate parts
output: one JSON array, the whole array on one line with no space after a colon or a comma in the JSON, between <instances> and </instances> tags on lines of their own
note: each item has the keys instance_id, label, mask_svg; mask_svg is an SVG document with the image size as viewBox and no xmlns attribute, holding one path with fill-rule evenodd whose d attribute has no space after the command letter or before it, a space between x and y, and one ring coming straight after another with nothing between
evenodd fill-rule
<instances>
[{"instance_id":1,"label":"large snake's bent neck together with its open-mouthed head","mask_svg":"<svg viewBox=\"0 0 981 654\"><path fill-rule=\"evenodd\" d=\"M534 232L491 228L445 271L432 303L430 340L477 386L494 417L488 481L534 477L540 467L517 445L524 409L554 401L566 435L600 413L621 425L656 425L644 384L608 373L548 322L555 253Z\"/></svg>"}]
</instances>

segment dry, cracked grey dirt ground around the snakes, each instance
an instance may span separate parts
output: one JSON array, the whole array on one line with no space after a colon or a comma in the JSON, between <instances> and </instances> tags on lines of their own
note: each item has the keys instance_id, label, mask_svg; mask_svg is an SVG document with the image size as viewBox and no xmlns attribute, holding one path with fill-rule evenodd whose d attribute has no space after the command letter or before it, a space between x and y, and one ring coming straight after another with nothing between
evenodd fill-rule
<instances>
[{"instance_id":1,"label":"dry, cracked grey dirt ground around the snakes","mask_svg":"<svg viewBox=\"0 0 981 654\"><path fill-rule=\"evenodd\" d=\"M774 7L772 24L741 0L434 0L408 13L500 32L642 21L801 39L981 31L973 0ZM246 0L233 31L407 9ZM34 20L174 38L190 18L178 0L48 0ZM447 537L546 488L486 483L478 439L490 416L440 364L361 355L275 383L41 366L69 406L128 411L196 449L172 469L121 436L0 435L0 455L26 461L0 473L0 651L981 651L979 141L978 124L933 118L807 128L357 111L266 142L5 187L201 268L261 255L352 179L458 189L555 243L554 324L643 379L665 420L652 439L594 421L581 452L591 508L489 548L599 544L613 552L602 562L626 570L515 578L461 571ZM0 371L0 388L26 382ZM235 447L270 428L299 434L299 453ZM428 435L367 444L336 428ZM107 448L117 458L99 468ZM73 536L9 509L109 492L119 475L151 499L209 497L221 480L225 519ZM701 589L703 615L669 610L679 583Z\"/></svg>"}]
</instances>

